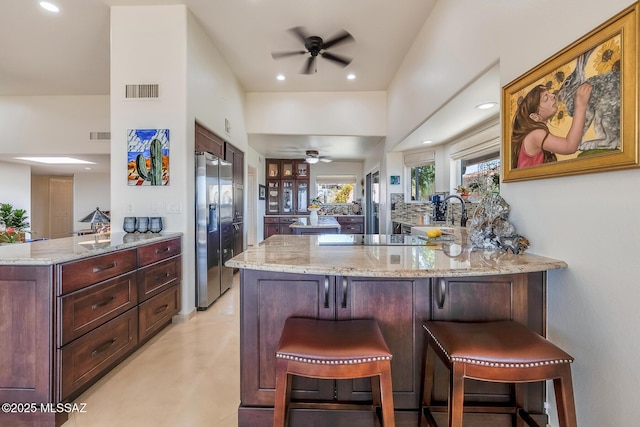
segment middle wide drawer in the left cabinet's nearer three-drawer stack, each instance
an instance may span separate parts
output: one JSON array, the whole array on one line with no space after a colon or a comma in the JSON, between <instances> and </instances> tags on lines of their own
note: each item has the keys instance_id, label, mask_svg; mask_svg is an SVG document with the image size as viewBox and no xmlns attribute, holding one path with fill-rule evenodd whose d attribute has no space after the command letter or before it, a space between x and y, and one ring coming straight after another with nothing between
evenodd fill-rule
<instances>
[{"instance_id":1,"label":"middle wide drawer in the left cabinet's nearer three-drawer stack","mask_svg":"<svg viewBox=\"0 0 640 427\"><path fill-rule=\"evenodd\" d=\"M63 346L138 304L136 273L116 277L60 298Z\"/></svg>"}]
</instances>

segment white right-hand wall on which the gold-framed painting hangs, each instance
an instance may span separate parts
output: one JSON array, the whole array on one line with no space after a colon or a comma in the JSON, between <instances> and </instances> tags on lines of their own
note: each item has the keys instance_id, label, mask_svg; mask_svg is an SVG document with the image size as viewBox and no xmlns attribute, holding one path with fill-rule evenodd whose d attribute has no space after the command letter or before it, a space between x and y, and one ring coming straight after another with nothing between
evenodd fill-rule
<instances>
[{"instance_id":1,"label":"white right-hand wall on which the gold-framed painting hangs","mask_svg":"<svg viewBox=\"0 0 640 427\"><path fill-rule=\"evenodd\" d=\"M497 59L505 85L629 4L438 2L389 89L387 149ZM510 220L531 241L529 252L569 265L548 275L547 329L551 341L576 358L582 427L631 426L640 417L640 199L629 192L639 180L640 169L634 169L502 185ZM552 388L549 398L557 426Z\"/></svg>"}]
</instances>

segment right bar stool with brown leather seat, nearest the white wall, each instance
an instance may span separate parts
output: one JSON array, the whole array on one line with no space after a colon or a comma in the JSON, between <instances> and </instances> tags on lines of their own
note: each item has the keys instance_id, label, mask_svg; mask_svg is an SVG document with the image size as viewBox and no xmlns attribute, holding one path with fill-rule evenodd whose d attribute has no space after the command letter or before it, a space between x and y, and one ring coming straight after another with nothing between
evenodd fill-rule
<instances>
[{"instance_id":1,"label":"right bar stool with brown leather seat, nearest the white wall","mask_svg":"<svg viewBox=\"0 0 640 427\"><path fill-rule=\"evenodd\" d=\"M512 413L529 426L538 424L521 407L522 397L517 384L553 380L560 427L577 426L571 383L573 357L542 336L514 321L428 321L423 327L427 339L421 389L422 414L431 427L437 427L431 413L431 409L436 408L431 402L435 355L450 371L449 427L462 427L465 378L516 383L515 405L502 410L495 406L474 405L473 412Z\"/></svg>"}]
</instances>

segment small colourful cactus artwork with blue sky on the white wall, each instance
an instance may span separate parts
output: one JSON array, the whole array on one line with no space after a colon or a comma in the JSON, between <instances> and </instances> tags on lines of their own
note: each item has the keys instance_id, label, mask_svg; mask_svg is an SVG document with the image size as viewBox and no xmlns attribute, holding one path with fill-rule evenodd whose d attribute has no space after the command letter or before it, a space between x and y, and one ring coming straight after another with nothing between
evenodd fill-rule
<instances>
[{"instance_id":1,"label":"small colourful cactus artwork with blue sky on the white wall","mask_svg":"<svg viewBox=\"0 0 640 427\"><path fill-rule=\"evenodd\" d=\"M129 185L169 185L169 129L127 131Z\"/></svg>"}]
</instances>

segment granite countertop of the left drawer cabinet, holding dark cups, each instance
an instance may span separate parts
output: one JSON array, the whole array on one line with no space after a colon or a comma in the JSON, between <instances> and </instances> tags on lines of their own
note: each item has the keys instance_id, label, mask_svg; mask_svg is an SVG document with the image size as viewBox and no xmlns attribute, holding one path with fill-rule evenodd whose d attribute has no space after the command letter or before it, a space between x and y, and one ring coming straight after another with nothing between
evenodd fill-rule
<instances>
[{"instance_id":1,"label":"granite countertop of the left drawer cabinet, holding dark cups","mask_svg":"<svg viewBox=\"0 0 640 427\"><path fill-rule=\"evenodd\" d=\"M52 265L182 236L182 233L87 234L0 246L0 265Z\"/></svg>"}]
</instances>

